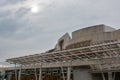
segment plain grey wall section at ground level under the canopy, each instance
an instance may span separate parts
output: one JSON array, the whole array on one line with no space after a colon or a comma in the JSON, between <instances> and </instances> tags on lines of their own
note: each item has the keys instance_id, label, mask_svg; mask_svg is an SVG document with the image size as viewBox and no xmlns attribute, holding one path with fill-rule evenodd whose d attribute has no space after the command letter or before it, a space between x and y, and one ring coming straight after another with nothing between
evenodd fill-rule
<instances>
[{"instance_id":1,"label":"plain grey wall section at ground level under the canopy","mask_svg":"<svg viewBox=\"0 0 120 80\"><path fill-rule=\"evenodd\" d=\"M92 80L92 75L87 69L74 69L73 80Z\"/></svg>"}]
</instances>

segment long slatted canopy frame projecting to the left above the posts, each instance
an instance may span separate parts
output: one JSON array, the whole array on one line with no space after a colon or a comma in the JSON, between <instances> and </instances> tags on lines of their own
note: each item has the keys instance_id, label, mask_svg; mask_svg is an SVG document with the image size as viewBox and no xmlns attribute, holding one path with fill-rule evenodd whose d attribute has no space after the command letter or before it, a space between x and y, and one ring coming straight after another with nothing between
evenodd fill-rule
<instances>
[{"instance_id":1,"label":"long slatted canopy frame projecting to the left above the posts","mask_svg":"<svg viewBox=\"0 0 120 80\"><path fill-rule=\"evenodd\" d=\"M120 41L90 45L75 49L40 53L23 57L10 58L6 61L13 64L31 65L41 63L75 62L94 59L106 59L120 56Z\"/></svg>"}]
</instances>

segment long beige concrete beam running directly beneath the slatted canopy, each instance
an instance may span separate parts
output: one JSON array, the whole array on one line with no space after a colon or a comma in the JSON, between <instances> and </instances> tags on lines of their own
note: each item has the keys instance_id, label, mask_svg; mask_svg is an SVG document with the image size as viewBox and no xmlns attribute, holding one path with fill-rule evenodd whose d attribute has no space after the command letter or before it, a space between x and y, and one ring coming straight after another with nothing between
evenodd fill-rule
<instances>
[{"instance_id":1,"label":"long beige concrete beam running directly beneath the slatted canopy","mask_svg":"<svg viewBox=\"0 0 120 80\"><path fill-rule=\"evenodd\" d=\"M118 59L117 59L118 60ZM100 61L100 63L98 63ZM104 65L104 64L114 64L116 62L115 58L105 58L105 59L94 59L94 60L84 60L84 61L72 61L72 62L56 62L56 63L43 63L42 68L54 68L54 67L67 67L67 66L85 66L85 65ZM117 64L120 64L120 58ZM32 68L40 68L41 64L35 64L35 65L23 65L22 69L32 69ZM118 66L118 65L114 65ZM1 68L0 70L14 70L14 67L9 68ZM20 67L16 67L16 69L20 69Z\"/></svg>"}]
</instances>

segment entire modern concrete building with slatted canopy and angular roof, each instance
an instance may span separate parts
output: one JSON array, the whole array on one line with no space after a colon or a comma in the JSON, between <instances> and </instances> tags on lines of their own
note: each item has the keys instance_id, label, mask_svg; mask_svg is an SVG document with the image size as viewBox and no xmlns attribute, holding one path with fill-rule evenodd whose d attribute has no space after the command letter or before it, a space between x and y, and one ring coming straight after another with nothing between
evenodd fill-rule
<instances>
[{"instance_id":1,"label":"entire modern concrete building with slatted canopy and angular roof","mask_svg":"<svg viewBox=\"0 0 120 80\"><path fill-rule=\"evenodd\" d=\"M68 33L54 49L10 58L7 80L120 80L120 30L104 24Z\"/></svg>"}]
</instances>

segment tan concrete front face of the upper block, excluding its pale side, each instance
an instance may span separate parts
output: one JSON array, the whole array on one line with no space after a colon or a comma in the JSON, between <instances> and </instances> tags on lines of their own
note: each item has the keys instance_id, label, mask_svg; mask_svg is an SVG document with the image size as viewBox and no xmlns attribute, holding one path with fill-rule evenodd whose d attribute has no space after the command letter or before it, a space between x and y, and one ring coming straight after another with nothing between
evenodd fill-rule
<instances>
[{"instance_id":1,"label":"tan concrete front face of the upper block, excluding its pale side","mask_svg":"<svg viewBox=\"0 0 120 80\"><path fill-rule=\"evenodd\" d=\"M72 43L98 39L96 35L104 32L103 25L96 25L72 32Z\"/></svg>"}]
</instances>

